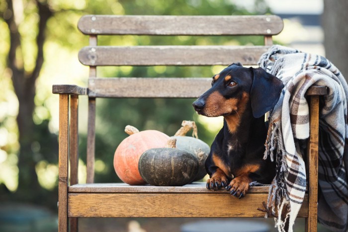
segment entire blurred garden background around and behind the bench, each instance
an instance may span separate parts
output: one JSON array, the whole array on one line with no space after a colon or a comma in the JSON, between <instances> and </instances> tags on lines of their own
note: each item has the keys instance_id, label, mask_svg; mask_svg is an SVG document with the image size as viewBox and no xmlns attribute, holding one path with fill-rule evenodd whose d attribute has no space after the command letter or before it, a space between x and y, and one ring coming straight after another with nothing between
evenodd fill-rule
<instances>
[{"instance_id":1,"label":"entire blurred garden background around and behind the bench","mask_svg":"<svg viewBox=\"0 0 348 232\"><path fill-rule=\"evenodd\" d=\"M77 59L85 14L277 14L277 44L326 56L348 77L347 0L0 0L0 231L57 231L58 96L52 84L87 86ZM99 45L262 45L262 37L100 36ZM231 61L231 63L236 61ZM211 77L212 67L113 67L99 77ZM193 99L97 99L95 182L119 182L113 154L125 125L174 135L194 120L211 144L222 118L198 116ZM79 180L86 181L87 97L80 97ZM191 219L88 219L81 231L179 231ZM272 224L272 222L267 221ZM303 223L299 220L298 224ZM164 226L166 225L166 226ZM170 229L170 230L169 230ZM297 229L296 229L297 230ZM301 229L298 229L301 231ZM320 229L325 231L325 229Z\"/></svg>"}]
</instances>

